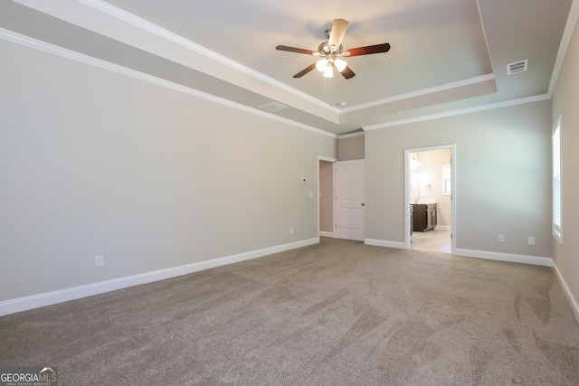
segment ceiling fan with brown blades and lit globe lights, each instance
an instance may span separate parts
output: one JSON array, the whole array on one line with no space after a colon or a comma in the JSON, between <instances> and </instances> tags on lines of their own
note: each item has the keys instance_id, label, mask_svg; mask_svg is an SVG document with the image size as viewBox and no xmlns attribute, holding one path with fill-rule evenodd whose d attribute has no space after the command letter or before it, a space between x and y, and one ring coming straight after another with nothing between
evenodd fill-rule
<instances>
[{"instance_id":1,"label":"ceiling fan with brown blades and lit globe lights","mask_svg":"<svg viewBox=\"0 0 579 386\"><path fill-rule=\"evenodd\" d=\"M322 42L318 46L318 51L305 50L302 48L289 47L287 45L279 45L275 49L280 51L288 52L298 52L305 53L307 55L319 56L321 59L302 71L295 74L294 78L301 78L306 75L309 71L318 69L318 71L323 72L326 78L331 78L334 76L334 69L340 72L344 78L350 79L356 76L356 73L352 71L348 66L343 57L353 57L360 55L369 55L371 53L381 53L390 51L390 44L384 42L382 44L368 45L365 47L352 48L348 51L344 51L342 47L342 40L346 34L348 22L344 19L334 19L334 24L332 28L324 31L326 35L327 42Z\"/></svg>"}]
</instances>

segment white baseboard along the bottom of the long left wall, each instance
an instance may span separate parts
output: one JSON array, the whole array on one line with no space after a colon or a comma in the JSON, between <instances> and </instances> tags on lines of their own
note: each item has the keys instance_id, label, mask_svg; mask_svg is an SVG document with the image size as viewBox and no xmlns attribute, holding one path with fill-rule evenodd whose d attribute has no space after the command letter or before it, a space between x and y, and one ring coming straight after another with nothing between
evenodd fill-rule
<instances>
[{"instance_id":1,"label":"white baseboard along the bottom of the long left wall","mask_svg":"<svg viewBox=\"0 0 579 386\"><path fill-rule=\"evenodd\" d=\"M184 266L159 269L156 271L131 275L124 278L113 278L111 280L100 281L98 283L87 284L84 286L63 288L57 291L45 292L43 294L32 295L29 297L19 297L16 299L5 300L0 302L0 316L14 314L16 312L26 311L42 306L51 306L69 300L80 299L81 297L91 297L93 295L103 294L105 292L114 291L116 289L138 286L140 284L151 283L153 281L163 280L166 278L175 278L177 276L198 272L204 269L220 267L227 264L238 263L244 260L257 259L289 249L297 249L306 247L308 245L317 244L318 242L319 237L309 240L290 242L289 244L252 250L223 258L185 264Z\"/></svg>"}]
</instances>

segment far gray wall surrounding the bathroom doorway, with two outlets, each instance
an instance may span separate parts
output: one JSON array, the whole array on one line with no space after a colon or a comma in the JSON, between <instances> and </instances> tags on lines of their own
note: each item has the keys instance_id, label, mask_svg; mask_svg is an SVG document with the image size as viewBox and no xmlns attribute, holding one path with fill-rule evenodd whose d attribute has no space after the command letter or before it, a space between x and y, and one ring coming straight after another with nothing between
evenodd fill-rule
<instances>
[{"instance_id":1,"label":"far gray wall surrounding the bathroom doorway, with two outlets","mask_svg":"<svg viewBox=\"0 0 579 386\"><path fill-rule=\"evenodd\" d=\"M366 239L404 240L404 149L456 144L457 249L550 257L550 134L548 100L366 131Z\"/></svg>"}]
</instances>

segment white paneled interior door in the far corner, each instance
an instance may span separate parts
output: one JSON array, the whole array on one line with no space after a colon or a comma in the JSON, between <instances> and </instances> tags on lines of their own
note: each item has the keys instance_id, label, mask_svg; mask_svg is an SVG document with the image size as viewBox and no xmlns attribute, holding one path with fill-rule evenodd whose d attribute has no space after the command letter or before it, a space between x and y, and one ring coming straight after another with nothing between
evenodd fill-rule
<instances>
[{"instance_id":1,"label":"white paneled interior door in the far corner","mask_svg":"<svg viewBox=\"0 0 579 386\"><path fill-rule=\"evenodd\" d=\"M364 240L364 160L338 161L337 238Z\"/></svg>"}]
</instances>

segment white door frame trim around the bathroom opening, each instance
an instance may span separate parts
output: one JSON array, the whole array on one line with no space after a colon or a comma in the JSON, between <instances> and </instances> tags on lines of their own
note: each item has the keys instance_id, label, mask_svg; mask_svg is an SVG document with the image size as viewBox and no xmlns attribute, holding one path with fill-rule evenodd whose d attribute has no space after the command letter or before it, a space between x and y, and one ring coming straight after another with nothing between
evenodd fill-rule
<instances>
[{"instance_id":1,"label":"white door frame trim around the bathroom opening","mask_svg":"<svg viewBox=\"0 0 579 386\"><path fill-rule=\"evenodd\" d=\"M457 202L457 181L456 181L456 144L441 145L441 146L427 146L415 147L412 149L404 149L404 248L411 249L410 243L410 155L412 153L428 152L433 150L451 150L451 253L456 251L456 202Z\"/></svg>"}]
</instances>

